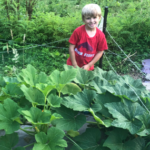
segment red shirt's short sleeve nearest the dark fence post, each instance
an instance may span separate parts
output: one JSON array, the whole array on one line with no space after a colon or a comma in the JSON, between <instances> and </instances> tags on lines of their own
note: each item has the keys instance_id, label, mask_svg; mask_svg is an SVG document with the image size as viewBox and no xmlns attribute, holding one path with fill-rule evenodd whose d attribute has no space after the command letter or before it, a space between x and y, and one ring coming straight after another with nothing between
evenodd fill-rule
<instances>
[{"instance_id":1,"label":"red shirt's short sleeve nearest the dark fence post","mask_svg":"<svg viewBox=\"0 0 150 150\"><path fill-rule=\"evenodd\" d=\"M99 39L99 42L98 42L97 51L104 51L104 50L108 49L105 35L104 34L102 34L102 35L103 36L100 36L100 39Z\"/></svg>"}]
</instances>

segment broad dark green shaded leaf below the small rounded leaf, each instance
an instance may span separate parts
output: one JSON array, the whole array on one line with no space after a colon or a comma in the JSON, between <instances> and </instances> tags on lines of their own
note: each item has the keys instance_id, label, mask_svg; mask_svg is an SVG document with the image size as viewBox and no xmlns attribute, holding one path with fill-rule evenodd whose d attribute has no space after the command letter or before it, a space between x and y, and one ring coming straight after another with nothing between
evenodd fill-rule
<instances>
[{"instance_id":1,"label":"broad dark green shaded leaf below the small rounded leaf","mask_svg":"<svg viewBox=\"0 0 150 150\"><path fill-rule=\"evenodd\" d=\"M77 131L86 123L86 117L84 115L78 115L78 112L71 109L61 107L56 109L56 111L63 117L53 122L57 128L67 131Z\"/></svg>"}]
</instances>

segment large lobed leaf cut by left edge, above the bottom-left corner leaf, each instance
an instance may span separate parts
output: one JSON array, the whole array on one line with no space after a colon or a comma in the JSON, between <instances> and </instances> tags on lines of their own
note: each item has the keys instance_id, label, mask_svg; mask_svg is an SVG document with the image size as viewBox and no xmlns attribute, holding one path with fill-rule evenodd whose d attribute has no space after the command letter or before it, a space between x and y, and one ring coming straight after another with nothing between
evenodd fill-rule
<instances>
[{"instance_id":1,"label":"large lobed leaf cut by left edge, above the bottom-left corner leaf","mask_svg":"<svg viewBox=\"0 0 150 150\"><path fill-rule=\"evenodd\" d=\"M4 104L0 104L0 129L4 129L6 134L11 134L18 130L20 124L17 122L20 114L19 106L11 99L6 99Z\"/></svg>"}]
</instances>

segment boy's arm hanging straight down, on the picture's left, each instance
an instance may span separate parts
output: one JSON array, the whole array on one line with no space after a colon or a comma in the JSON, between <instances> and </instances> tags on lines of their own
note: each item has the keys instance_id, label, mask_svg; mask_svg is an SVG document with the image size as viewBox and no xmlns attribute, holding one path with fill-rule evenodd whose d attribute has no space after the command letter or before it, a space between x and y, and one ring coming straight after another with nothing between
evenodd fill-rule
<instances>
[{"instance_id":1,"label":"boy's arm hanging straight down, on the picture's left","mask_svg":"<svg viewBox=\"0 0 150 150\"><path fill-rule=\"evenodd\" d=\"M77 65L76 58L75 58L74 48L75 48L75 45L73 45L73 44L69 45L69 54L70 54L72 66L77 67L78 65Z\"/></svg>"}]
</instances>

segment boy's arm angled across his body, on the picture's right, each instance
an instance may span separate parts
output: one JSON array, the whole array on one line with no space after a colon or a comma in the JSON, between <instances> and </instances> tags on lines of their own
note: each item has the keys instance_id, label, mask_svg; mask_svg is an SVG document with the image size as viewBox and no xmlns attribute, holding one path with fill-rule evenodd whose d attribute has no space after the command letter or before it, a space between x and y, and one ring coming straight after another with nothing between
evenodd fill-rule
<instances>
[{"instance_id":1,"label":"boy's arm angled across his body, on the picture's right","mask_svg":"<svg viewBox=\"0 0 150 150\"><path fill-rule=\"evenodd\" d=\"M90 61L87 65L84 65L82 68L85 70L89 70L92 65L94 65L103 55L103 51L98 51L95 57Z\"/></svg>"}]
</instances>

